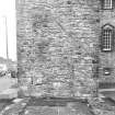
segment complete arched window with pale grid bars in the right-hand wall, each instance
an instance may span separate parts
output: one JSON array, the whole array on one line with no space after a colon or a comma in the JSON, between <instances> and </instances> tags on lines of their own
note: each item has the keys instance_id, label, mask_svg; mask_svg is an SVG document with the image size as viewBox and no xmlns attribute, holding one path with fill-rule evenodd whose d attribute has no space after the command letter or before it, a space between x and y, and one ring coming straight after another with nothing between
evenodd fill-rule
<instances>
[{"instance_id":1,"label":"complete arched window with pale grid bars in the right-hand wall","mask_svg":"<svg viewBox=\"0 0 115 115\"><path fill-rule=\"evenodd\" d=\"M101 41L101 47L103 51L111 51L113 49L113 26L110 24L106 24L102 27L102 41Z\"/></svg>"}]
</instances>

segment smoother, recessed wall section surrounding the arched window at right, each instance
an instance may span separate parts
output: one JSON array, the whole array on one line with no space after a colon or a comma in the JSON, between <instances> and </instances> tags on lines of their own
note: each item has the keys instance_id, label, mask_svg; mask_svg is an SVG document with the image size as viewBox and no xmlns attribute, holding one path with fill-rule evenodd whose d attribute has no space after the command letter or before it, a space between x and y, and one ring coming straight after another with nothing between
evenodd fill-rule
<instances>
[{"instance_id":1,"label":"smoother, recessed wall section surrounding the arched window at right","mask_svg":"<svg viewBox=\"0 0 115 115\"><path fill-rule=\"evenodd\" d=\"M115 26L115 5L112 10L101 10L100 9L100 38L101 38L101 27L105 24L111 24ZM115 34L115 30L114 30ZM115 42L115 41L114 41ZM115 82L115 45L114 49L111 53L102 53L100 50L100 72L99 72L99 81L100 82ZM104 76L103 68L111 68L111 74Z\"/></svg>"}]
</instances>

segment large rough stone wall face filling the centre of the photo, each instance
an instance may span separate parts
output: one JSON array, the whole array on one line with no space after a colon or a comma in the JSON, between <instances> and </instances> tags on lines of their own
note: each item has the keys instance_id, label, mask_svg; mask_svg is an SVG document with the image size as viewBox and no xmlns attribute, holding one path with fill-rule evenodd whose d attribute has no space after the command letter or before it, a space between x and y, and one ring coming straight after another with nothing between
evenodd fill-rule
<instances>
[{"instance_id":1,"label":"large rough stone wall face filling the centre of the photo","mask_svg":"<svg viewBox=\"0 0 115 115\"><path fill-rule=\"evenodd\" d=\"M18 69L25 95L83 96L95 90L99 0L19 0Z\"/></svg>"}]
</instances>

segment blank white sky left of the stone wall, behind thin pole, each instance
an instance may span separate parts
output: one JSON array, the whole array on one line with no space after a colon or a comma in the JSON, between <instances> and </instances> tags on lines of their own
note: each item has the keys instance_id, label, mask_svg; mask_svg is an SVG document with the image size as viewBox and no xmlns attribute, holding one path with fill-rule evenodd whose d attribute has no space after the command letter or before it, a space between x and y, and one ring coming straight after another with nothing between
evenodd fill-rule
<instances>
[{"instance_id":1,"label":"blank white sky left of the stone wall, behind thin pole","mask_svg":"<svg viewBox=\"0 0 115 115\"><path fill-rule=\"evenodd\" d=\"M7 58L5 18L8 25L9 58L16 60L15 0L0 0L0 57Z\"/></svg>"}]
</instances>

